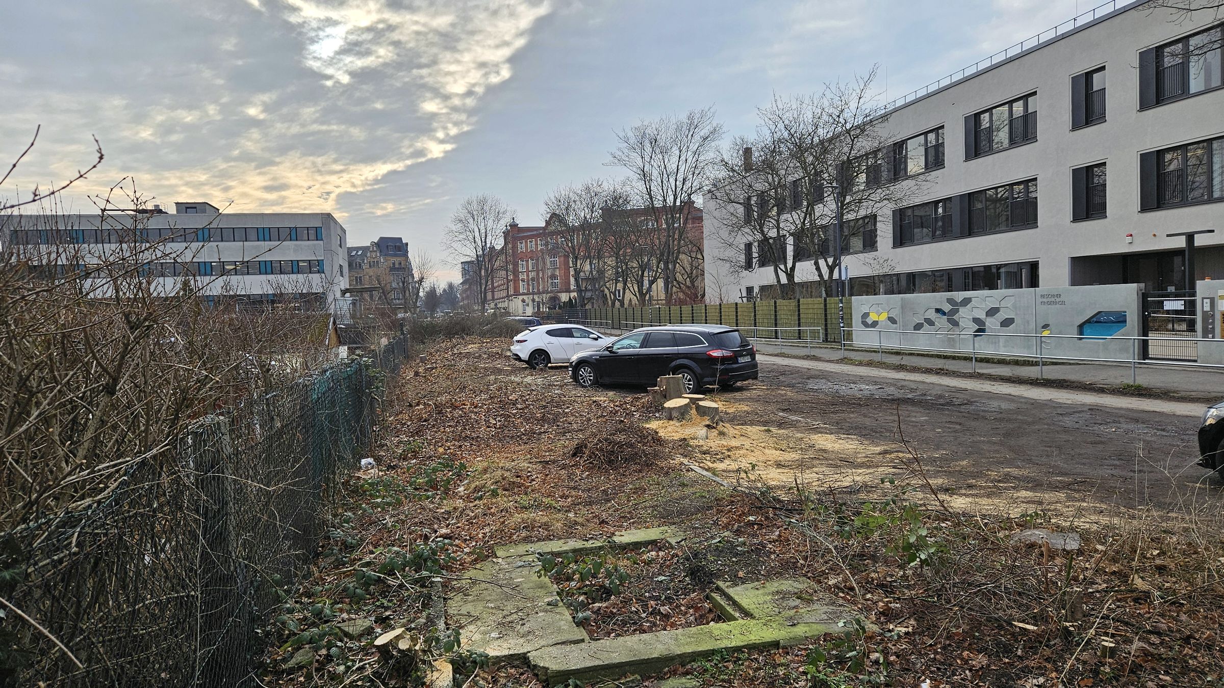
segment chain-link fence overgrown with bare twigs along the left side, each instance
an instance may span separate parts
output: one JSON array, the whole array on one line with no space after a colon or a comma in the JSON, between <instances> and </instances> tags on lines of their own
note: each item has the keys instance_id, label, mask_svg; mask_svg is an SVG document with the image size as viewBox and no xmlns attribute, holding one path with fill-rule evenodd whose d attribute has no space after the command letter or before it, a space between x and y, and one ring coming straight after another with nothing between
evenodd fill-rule
<instances>
[{"instance_id":1,"label":"chain-link fence overgrown with bare twigs along the left side","mask_svg":"<svg viewBox=\"0 0 1224 688\"><path fill-rule=\"evenodd\" d=\"M400 338L201 419L104 495L11 536L26 561L0 572L17 578L0 580L5 683L256 686L277 588L312 559L408 350Z\"/></svg>"}]
</instances>

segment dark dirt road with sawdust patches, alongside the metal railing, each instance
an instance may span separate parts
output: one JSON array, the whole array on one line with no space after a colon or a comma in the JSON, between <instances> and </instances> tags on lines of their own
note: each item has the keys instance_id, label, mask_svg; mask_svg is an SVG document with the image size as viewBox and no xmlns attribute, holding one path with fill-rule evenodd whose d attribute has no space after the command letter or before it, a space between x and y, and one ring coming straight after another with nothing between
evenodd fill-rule
<instances>
[{"instance_id":1,"label":"dark dirt road with sawdust patches, alongside the metal railing","mask_svg":"<svg viewBox=\"0 0 1224 688\"><path fill-rule=\"evenodd\" d=\"M901 476L913 468L903 437L940 491L969 508L1224 504L1224 482L1195 465L1193 404L805 364L766 357L760 382L722 395L733 424L799 433L792 444L813 438L780 462L732 459L777 469L771 482L788 482L787 471L831 488Z\"/></svg>"}]
</instances>

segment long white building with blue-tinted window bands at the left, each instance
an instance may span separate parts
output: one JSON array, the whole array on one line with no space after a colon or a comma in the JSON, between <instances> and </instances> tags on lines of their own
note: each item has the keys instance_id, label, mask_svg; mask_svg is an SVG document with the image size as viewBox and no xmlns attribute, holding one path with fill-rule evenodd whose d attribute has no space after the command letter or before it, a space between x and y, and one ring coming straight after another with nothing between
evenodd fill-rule
<instances>
[{"instance_id":1,"label":"long white building with blue-tinted window bands at the left","mask_svg":"<svg viewBox=\"0 0 1224 688\"><path fill-rule=\"evenodd\" d=\"M29 214L0 218L17 256L60 272L91 263L131 263L157 289L185 279L208 301L241 304L311 299L334 307L348 286L344 226L330 213L222 213L211 203L140 212Z\"/></svg>"}]
</instances>

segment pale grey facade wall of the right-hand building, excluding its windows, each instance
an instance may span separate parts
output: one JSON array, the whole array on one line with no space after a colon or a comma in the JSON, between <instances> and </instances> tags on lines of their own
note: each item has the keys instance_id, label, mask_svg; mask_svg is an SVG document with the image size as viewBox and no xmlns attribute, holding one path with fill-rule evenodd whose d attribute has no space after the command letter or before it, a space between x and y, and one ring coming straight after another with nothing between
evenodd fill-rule
<instances>
[{"instance_id":1,"label":"pale grey facade wall of the right-hand building, excluding its windows","mask_svg":"<svg viewBox=\"0 0 1224 688\"><path fill-rule=\"evenodd\" d=\"M1036 228L894 249L891 213L885 211L878 214L879 250L848 256L851 275L880 272L885 261L886 272L1039 261L1040 284L1064 286L1071 284L1071 257L1176 250L1182 247L1182 239L1165 234L1220 228L1222 203L1141 213L1138 157L1141 152L1224 135L1224 89L1138 111L1136 67L1141 50L1219 20L1211 11L1200 11L1173 21L1176 17L1169 10L1135 9L1137 5L1132 2L1113 16L955 82L889 116L894 141L944 126L946 165L920 175L928 186L914 203L1037 178ZM1071 77L1098 66L1106 67L1106 119L1071 131ZM1033 92L1038 102L1037 141L966 160L963 118ZM1108 165L1108 214L1072 223L1071 169L1097 162ZM706 207L709 302L717 302L720 293L721 300L734 300L747 284L775 280L769 269L734 268L737 261L743 262L743 240L728 229L734 226L730 218L737 213L742 213L739 206L711 201ZM1130 244L1127 234L1133 235ZM1224 233L1200 236L1198 244L1224 245ZM1197 277L1208 275L1224 279L1224 263L1200 262ZM800 266L798 279L814 278L810 263Z\"/></svg>"}]
</instances>

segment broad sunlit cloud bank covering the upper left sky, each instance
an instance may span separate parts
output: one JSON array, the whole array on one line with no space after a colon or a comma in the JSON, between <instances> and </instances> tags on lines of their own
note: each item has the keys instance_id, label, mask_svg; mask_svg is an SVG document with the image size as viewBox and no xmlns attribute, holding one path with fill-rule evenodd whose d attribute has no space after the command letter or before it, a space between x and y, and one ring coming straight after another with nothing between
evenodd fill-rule
<instances>
[{"instance_id":1,"label":"broad sunlit cloud bank covering the upper left sky","mask_svg":"<svg viewBox=\"0 0 1224 688\"><path fill-rule=\"evenodd\" d=\"M133 2L89 2L59 26L86 53L59 65L33 42L0 47L0 84L10 108L21 104L0 116L0 157L43 125L23 186L86 164L95 133L108 159L81 190L130 174L166 202L334 212L341 196L450 152L552 10L551 0ZM29 5L27 33L39 21L50 31L53 17ZM141 47L116 53L120 34ZM51 78L35 76L48 66Z\"/></svg>"}]
</instances>

